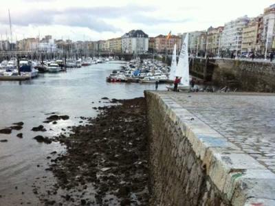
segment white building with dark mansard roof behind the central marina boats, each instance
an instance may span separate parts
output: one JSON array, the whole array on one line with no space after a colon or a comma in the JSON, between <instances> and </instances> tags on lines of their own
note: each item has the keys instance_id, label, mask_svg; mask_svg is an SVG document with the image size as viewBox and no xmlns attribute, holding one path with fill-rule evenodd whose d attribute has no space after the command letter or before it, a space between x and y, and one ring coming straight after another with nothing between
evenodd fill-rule
<instances>
[{"instance_id":1,"label":"white building with dark mansard roof behind the central marina boats","mask_svg":"<svg viewBox=\"0 0 275 206\"><path fill-rule=\"evenodd\" d=\"M122 52L142 54L148 52L149 38L142 30L131 30L122 36Z\"/></svg>"}]
</instances>

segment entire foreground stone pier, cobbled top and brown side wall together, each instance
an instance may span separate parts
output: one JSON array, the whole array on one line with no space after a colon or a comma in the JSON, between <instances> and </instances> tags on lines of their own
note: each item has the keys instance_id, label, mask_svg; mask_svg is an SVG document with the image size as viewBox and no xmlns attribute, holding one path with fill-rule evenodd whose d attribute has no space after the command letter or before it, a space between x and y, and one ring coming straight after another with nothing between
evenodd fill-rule
<instances>
[{"instance_id":1,"label":"entire foreground stone pier, cobbled top and brown side wall together","mask_svg":"<svg viewBox=\"0 0 275 206\"><path fill-rule=\"evenodd\" d=\"M275 205L275 95L145 96L152 205Z\"/></svg>"}]
</instances>

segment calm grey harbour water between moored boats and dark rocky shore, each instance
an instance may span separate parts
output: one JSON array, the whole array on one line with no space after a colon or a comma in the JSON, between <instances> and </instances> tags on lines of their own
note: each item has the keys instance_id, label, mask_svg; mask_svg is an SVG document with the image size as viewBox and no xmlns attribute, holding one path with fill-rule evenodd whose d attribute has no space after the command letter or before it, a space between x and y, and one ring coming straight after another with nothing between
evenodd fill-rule
<instances>
[{"instance_id":1,"label":"calm grey harbour water between moored boats and dark rocky shore","mask_svg":"<svg viewBox=\"0 0 275 206\"><path fill-rule=\"evenodd\" d=\"M49 164L46 157L64 148L56 143L39 144L33 137L52 137L61 133L63 127L79 124L80 116L96 115L91 107L102 106L104 103L99 103L104 102L102 97L135 98L143 96L144 89L155 89L154 84L107 83L106 76L122 64L124 62L109 62L64 73L45 73L29 82L0 82L0 128L24 122L22 130L13 130L11 135L0 134L0 140L8 139L7 143L0 142L0 205L28 202L39 205L32 184L38 177L51 176L50 172L45 172ZM159 89L164 88L165 85L159 84ZM45 114L52 112L69 115L70 119L58 121L56 125L43 124L48 116ZM40 124L47 132L31 131ZM16 137L17 133L23 133L23 139ZM43 181L41 187L45 187Z\"/></svg>"}]
</instances>

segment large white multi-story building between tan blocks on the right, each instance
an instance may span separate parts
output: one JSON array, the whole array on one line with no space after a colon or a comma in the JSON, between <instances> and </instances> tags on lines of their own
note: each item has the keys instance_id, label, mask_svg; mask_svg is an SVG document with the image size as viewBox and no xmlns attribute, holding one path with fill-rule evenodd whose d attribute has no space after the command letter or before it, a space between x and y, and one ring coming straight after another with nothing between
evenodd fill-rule
<instances>
[{"instance_id":1,"label":"large white multi-story building between tan blocks on the right","mask_svg":"<svg viewBox=\"0 0 275 206\"><path fill-rule=\"evenodd\" d=\"M228 52L241 52L241 43L243 36L243 27L248 25L250 18L248 16L239 17L236 20L225 23L221 35L221 50Z\"/></svg>"}]
</instances>

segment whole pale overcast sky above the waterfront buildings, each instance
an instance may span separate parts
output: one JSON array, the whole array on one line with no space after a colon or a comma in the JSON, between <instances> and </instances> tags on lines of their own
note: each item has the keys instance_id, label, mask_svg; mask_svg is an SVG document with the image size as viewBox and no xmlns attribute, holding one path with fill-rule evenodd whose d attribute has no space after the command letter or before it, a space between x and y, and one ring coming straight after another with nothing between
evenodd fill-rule
<instances>
[{"instance_id":1,"label":"whole pale overcast sky above the waterfront buildings","mask_svg":"<svg viewBox=\"0 0 275 206\"><path fill-rule=\"evenodd\" d=\"M254 3L255 2L255 3ZM274 0L1 0L0 38L51 34L96 41L141 29L149 36L206 30L239 16L257 16Z\"/></svg>"}]
</instances>

